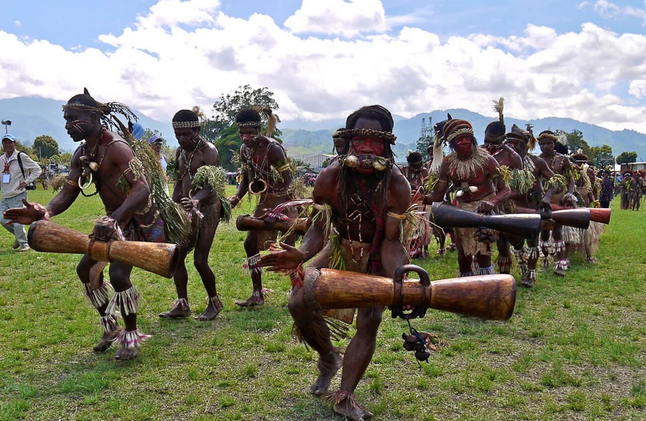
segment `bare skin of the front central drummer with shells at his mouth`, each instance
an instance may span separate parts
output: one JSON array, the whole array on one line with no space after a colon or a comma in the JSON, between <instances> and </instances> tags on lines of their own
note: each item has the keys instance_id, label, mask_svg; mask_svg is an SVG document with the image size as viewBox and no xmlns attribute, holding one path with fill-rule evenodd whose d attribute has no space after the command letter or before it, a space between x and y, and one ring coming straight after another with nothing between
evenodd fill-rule
<instances>
[{"instance_id":1,"label":"bare skin of the front central drummer with shells at his mouth","mask_svg":"<svg viewBox=\"0 0 646 421\"><path fill-rule=\"evenodd\" d=\"M377 120L360 118L355 128L373 128L382 130ZM358 154L375 154L383 156L384 145L379 138L353 138L351 140L352 149ZM344 210L341 207L339 197L339 174L341 163L334 161L328 168L318 175L314 185L314 201L320 205L329 205L333 209L333 215L343 215ZM371 178L373 170L354 169L357 177ZM397 167L393 166L390 176L390 189L386 196L387 210L396 214L403 214L410 206L411 190L408 181ZM370 200L370 198L366 198ZM374 221L368 223L366 220L359 224L359 221L350 221L349 229L345 224L340 223L333 216L333 225L344 238L353 241L359 241L359 231L364 243L370 243L375 235L376 225ZM310 265L326 267L328 265L327 256L319 254L328 239L324 236L325 221L319 218L313 227L307 231L306 236L300 249L289 245L282 245L283 251L272 252L263 256L260 265L268 267L269 271L295 269L300 263L312 259ZM380 247L380 256L382 263L381 276L392 277L397 267L406 263L406 252L399 240L399 220L395 218L386 218L386 236ZM317 256L318 254L318 256ZM317 257L315 257L317 256ZM318 311L307 309L303 302L302 288L294 287L289 299L289 312L292 314L296 325L307 344L313 347L321 356L321 361L333 364L335 359L339 358L335 353L334 347L329 339L322 340L320 336L313 334L313 326L318 329L328 329ZM357 314L357 334L350 341L343 358L343 373L341 377L341 389L354 392L359 380L364 375L368 364L375 351L377 331L381 322L383 309L374 307L369 309L359 309ZM338 361L338 360L337 360ZM338 364L333 372L321 372L317 382L312 387L315 394L320 394L329 386L329 381L334 375ZM362 417L370 416L369 413L352 406L348 400L336 404L335 412L340 415L348 416L351 420L361 420Z\"/></svg>"}]
</instances>

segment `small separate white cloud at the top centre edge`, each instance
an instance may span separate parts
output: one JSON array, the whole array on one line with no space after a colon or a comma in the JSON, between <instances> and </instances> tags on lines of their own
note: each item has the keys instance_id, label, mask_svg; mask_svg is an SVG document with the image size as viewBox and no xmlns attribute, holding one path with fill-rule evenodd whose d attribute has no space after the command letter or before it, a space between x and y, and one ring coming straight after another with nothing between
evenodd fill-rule
<instances>
[{"instance_id":1,"label":"small separate white cloud at the top centre edge","mask_svg":"<svg viewBox=\"0 0 646 421\"><path fill-rule=\"evenodd\" d=\"M384 32L386 12L380 0L303 0L285 21L293 34L331 34L351 38Z\"/></svg>"}]
</instances>

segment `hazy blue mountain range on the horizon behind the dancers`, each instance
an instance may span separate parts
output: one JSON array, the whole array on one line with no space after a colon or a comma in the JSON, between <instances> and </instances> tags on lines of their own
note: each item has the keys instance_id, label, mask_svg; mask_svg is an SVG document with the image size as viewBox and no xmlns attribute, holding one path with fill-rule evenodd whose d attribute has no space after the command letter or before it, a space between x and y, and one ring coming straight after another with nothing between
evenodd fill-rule
<instances>
[{"instance_id":1,"label":"hazy blue mountain range on the horizon behind the dancers","mask_svg":"<svg viewBox=\"0 0 646 421\"><path fill-rule=\"evenodd\" d=\"M0 118L12 120L13 123L9 128L10 132L25 143L31 143L36 136L47 134L56 139L61 150L71 151L76 148L76 145L65 131L61 105L61 101L45 98L19 97L0 99ZM480 142L484 137L486 125L495 119L494 116L483 116L463 108L422 113L408 119L394 116L395 129L393 132L397 136L395 153L399 158L403 159L408 149L415 149L415 143L421 133L422 118L426 119L427 123L429 121L436 123L446 119L447 112L453 118L469 121L473 125L476 137ZM136 112L136 114L140 117L140 123L143 127L158 130L171 146L177 145L174 136L172 136L170 123L161 123L147 118L140 112ZM581 130L583 138L590 146L609 145L612 147L612 152L615 156L624 151L635 150L638 154L638 160L646 161L646 134L634 130L609 130L570 118L550 117L530 121L510 117L505 118L508 130L513 124L524 128L525 123L532 123L536 134L547 129L565 130L567 132L573 129ZM291 120L283 121L280 124L280 129L283 132L282 139L289 154L329 154L332 150L332 132L344 125L345 119L324 121Z\"/></svg>"}]
</instances>

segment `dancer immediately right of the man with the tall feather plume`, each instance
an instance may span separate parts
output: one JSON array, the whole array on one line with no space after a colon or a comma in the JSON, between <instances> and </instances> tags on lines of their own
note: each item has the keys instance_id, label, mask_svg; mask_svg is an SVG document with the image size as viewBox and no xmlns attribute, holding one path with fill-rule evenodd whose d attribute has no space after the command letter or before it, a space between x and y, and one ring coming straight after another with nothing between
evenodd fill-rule
<instances>
[{"instance_id":1,"label":"dancer immediately right of the man with the tall feather plume","mask_svg":"<svg viewBox=\"0 0 646 421\"><path fill-rule=\"evenodd\" d=\"M531 209L540 208L544 211L549 211L551 209L550 200L556 189L554 187L545 189L545 183L554 176L554 172L552 172L544 159L529 153L530 150L536 147L536 138L534 138L530 130L525 131L513 125L512 131L507 133L506 143L514 148L516 153L523 159L523 170L527 172L525 181L533 180L528 190L525 190L525 187L516 188L517 181L512 183L514 185L514 190L512 190L514 202L521 207ZM530 173L532 175L531 177L529 176ZM523 190L525 192L521 192ZM547 190L545 194L543 194L544 190ZM534 282L536 282L536 265L540 255L538 248L539 236L536 236L536 238L528 238L527 249L523 244L524 241L522 240L514 243L514 255L521 268L521 272L523 272L521 284L531 288L534 286Z\"/></svg>"}]
</instances>

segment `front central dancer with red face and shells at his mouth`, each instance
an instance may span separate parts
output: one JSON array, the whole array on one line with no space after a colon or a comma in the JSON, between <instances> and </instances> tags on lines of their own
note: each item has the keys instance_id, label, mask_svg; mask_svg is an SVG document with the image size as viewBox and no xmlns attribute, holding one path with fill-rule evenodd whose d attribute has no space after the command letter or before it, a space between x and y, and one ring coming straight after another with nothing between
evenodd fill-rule
<instances>
[{"instance_id":1,"label":"front central dancer with red face and shells at his mouth","mask_svg":"<svg viewBox=\"0 0 646 421\"><path fill-rule=\"evenodd\" d=\"M392 129L390 112L379 105L360 108L348 117L346 129L337 132L344 139L340 159L324 169L314 185L318 218L300 249L283 245L284 251L263 256L262 266L269 266L270 271L293 271L316 256L310 263L313 266L393 276L406 262L400 232L411 191L393 165ZM330 341L326 320L306 307L298 281L293 282L288 307L298 334L320 355L312 393L324 394L343 365L340 389L327 399L334 403L336 413L351 420L370 418L372 414L359 406L354 391L375 351L383 308L359 309L357 334L342 358Z\"/></svg>"}]
</instances>

